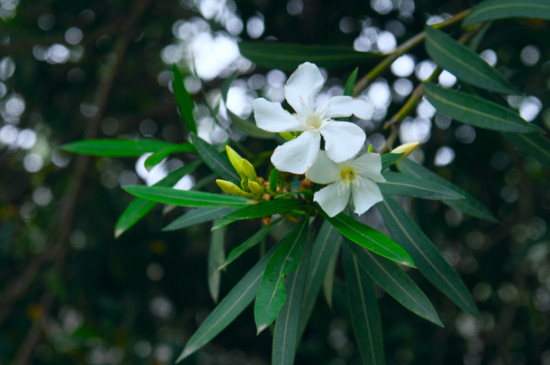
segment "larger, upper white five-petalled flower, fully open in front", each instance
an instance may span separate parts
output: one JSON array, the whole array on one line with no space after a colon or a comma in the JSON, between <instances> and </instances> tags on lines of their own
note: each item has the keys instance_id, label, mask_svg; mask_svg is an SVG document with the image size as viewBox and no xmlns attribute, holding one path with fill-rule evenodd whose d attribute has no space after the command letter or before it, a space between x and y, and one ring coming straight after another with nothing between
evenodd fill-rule
<instances>
[{"instance_id":1,"label":"larger, upper white five-petalled flower, fully open in front","mask_svg":"<svg viewBox=\"0 0 550 365\"><path fill-rule=\"evenodd\" d=\"M321 135L328 157L335 162L352 158L363 147L366 136L360 127L333 118L354 114L370 119L374 107L366 100L351 96L335 96L316 107L315 100L323 84L323 75L317 66L306 62L285 84L285 98L295 114L284 110L280 103L264 98L254 100L252 107L259 128L269 132L302 132L275 149L271 162L277 169L303 174L319 155Z\"/></svg>"}]
</instances>

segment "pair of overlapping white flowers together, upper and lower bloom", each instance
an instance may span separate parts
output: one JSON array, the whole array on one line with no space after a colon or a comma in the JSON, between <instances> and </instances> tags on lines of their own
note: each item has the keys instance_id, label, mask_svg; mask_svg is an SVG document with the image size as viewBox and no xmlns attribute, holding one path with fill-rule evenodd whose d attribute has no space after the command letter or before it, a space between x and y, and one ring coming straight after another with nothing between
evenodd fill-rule
<instances>
[{"instance_id":1,"label":"pair of overlapping white flowers together, upper and lower bloom","mask_svg":"<svg viewBox=\"0 0 550 365\"><path fill-rule=\"evenodd\" d=\"M286 101L295 113L284 110L280 103L258 98L253 103L256 124L269 132L292 132L296 136L275 149L271 162L280 171L305 173L314 183L328 184L314 194L313 200L330 217L344 210L350 196L355 213L362 214L382 200L376 185L385 181L380 173L381 158L376 153L354 158L364 147L365 132L354 123L335 118L355 115L370 119L374 107L351 96L335 96L317 105L323 84L317 66L301 64L284 88Z\"/></svg>"}]
</instances>

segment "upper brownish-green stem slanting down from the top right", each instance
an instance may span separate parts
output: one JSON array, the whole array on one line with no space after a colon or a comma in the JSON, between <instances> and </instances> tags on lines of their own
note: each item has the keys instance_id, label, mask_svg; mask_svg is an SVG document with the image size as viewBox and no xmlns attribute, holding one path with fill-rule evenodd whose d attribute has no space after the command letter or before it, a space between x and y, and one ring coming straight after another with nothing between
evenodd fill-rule
<instances>
[{"instance_id":1,"label":"upper brownish-green stem slanting down from the top right","mask_svg":"<svg viewBox=\"0 0 550 365\"><path fill-rule=\"evenodd\" d=\"M432 25L433 28L439 29L447 27L451 24L454 24L460 20L462 20L470 9L466 9L461 11L458 14L453 15L452 17L444 20L441 23ZM382 74L388 66L390 66L393 61L395 61L397 58L401 57L403 54L405 54L410 49L414 48L416 45L418 45L420 42L422 42L426 38L426 32L422 31L397 47L392 53L390 53L386 58L382 60L378 65L376 65L369 73L367 73L361 80L357 81L357 84L355 85L355 88L353 89L353 96L359 95L361 91L365 90L365 88L380 74Z\"/></svg>"}]
</instances>

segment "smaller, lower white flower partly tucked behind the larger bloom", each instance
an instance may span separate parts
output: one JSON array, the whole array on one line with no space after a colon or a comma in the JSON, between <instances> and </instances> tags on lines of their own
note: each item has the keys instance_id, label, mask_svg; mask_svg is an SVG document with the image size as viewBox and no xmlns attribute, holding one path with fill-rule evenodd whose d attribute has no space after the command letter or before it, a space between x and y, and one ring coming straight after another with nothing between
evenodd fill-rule
<instances>
[{"instance_id":1,"label":"smaller, lower white flower partly tucked behind the larger bloom","mask_svg":"<svg viewBox=\"0 0 550 365\"><path fill-rule=\"evenodd\" d=\"M386 181L380 170L382 162L377 153L365 153L354 160L331 161L325 151L306 172L306 177L318 184L329 184L313 196L321 208L334 217L348 205L350 195L356 214L363 214L383 200L377 182Z\"/></svg>"}]
</instances>

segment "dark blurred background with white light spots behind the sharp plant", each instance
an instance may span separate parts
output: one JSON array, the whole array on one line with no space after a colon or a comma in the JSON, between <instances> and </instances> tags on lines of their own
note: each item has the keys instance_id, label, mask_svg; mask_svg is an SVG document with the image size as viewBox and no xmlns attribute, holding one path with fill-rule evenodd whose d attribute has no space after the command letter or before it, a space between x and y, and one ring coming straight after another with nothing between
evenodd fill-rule
<instances>
[{"instance_id":1,"label":"dark blurred background with white light spots behind the sharp plant","mask_svg":"<svg viewBox=\"0 0 550 365\"><path fill-rule=\"evenodd\" d=\"M120 186L152 183L186 163L176 156L150 172L140 159L68 155L59 146L90 138L184 140L170 90L170 67L187 74L199 134L214 143L242 135L258 95L283 97L288 72L256 68L238 40L353 46L389 52L477 3L473 0L0 0L0 364L169 364L214 307L206 285L208 225L161 232L181 210L157 207L113 238L131 201ZM458 28L449 29L450 33ZM507 102L550 127L550 24L498 21L477 49L523 93ZM363 75L375 64L360 66ZM385 142L383 121L433 70L422 46L398 59L366 95L365 122ZM352 68L328 70L340 94ZM225 79L237 75L214 123ZM440 83L456 82L443 73ZM461 313L409 271L445 328L382 295L386 357L392 364L550 364L550 189L548 169L495 133L459 125L425 101L402 125L424 162L485 203L502 221L481 222L432 201L405 201L463 277L483 322ZM252 153L265 150L247 141ZM199 173L207 174L206 171ZM181 186L194 184L186 177ZM161 214L162 213L162 214ZM372 214L376 222L376 214ZM259 224L259 223L258 223ZM228 248L246 232L229 227ZM222 294L257 259L223 273ZM341 277L341 269L337 269ZM345 292L333 308L320 298L298 364L354 364ZM248 310L185 364L267 364L269 333L255 336Z\"/></svg>"}]
</instances>

